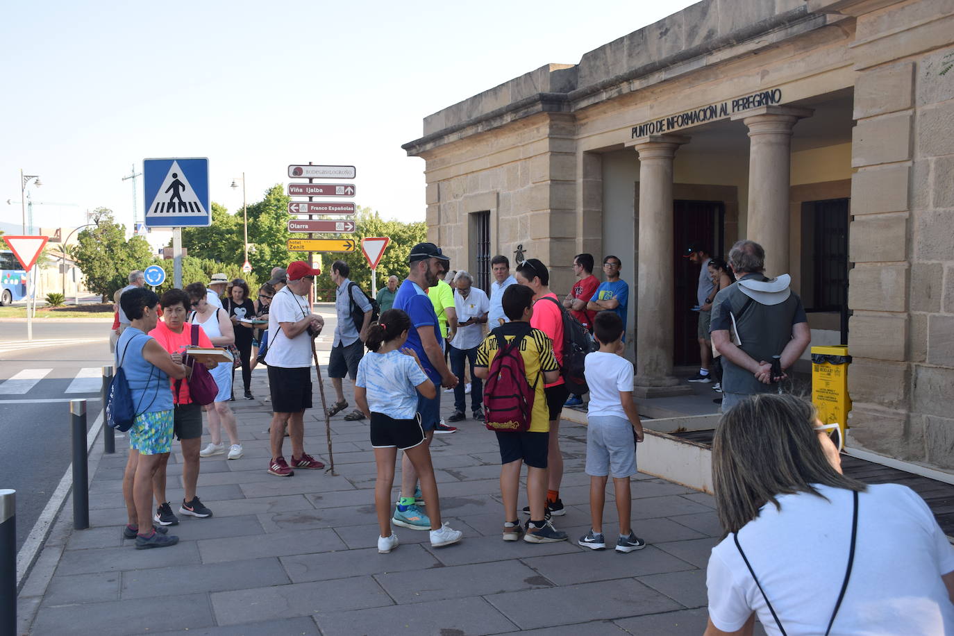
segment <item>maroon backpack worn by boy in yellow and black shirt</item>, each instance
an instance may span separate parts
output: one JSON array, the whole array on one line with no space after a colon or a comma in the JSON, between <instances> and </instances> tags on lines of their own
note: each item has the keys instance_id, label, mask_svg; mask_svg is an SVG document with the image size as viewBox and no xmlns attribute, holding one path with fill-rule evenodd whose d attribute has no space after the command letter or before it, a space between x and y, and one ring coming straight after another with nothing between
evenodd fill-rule
<instances>
[{"instance_id":1,"label":"maroon backpack worn by boy in yellow and black shirt","mask_svg":"<svg viewBox=\"0 0 954 636\"><path fill-rule=\"evenodd\" d=\"M520 343L529 336L530 327L509 342L500 327L490 333L497 339L497 355L484 382L484 423L491 431L524 433L529 430L536 397L536 382L530 386L520 354Z\"/></svg>"}]
</instances>

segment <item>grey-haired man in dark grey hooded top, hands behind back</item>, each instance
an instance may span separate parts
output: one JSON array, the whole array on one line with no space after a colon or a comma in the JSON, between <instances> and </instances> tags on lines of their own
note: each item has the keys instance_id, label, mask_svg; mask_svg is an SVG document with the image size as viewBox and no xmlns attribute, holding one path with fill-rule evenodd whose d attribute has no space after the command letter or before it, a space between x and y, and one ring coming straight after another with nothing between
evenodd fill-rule
<instances>
[{"instance_id":1,"label":"grey-haired man in dark grey hooded top, hands behind back","mask_svg":"<svg viewBox=\"0 0 954 636\"><path fill-rule=\"evenodd\" d=\"M790 277L767 278L762 272L765 250L740 240L729 252L736 282L713 303L712 340L722 354L722 410L747 396L772 393L776 383L805 351L812 339L801 298L789 289ZM772 358L780 356L781 376L772 373Z\"/></svg>"}]
</instances>

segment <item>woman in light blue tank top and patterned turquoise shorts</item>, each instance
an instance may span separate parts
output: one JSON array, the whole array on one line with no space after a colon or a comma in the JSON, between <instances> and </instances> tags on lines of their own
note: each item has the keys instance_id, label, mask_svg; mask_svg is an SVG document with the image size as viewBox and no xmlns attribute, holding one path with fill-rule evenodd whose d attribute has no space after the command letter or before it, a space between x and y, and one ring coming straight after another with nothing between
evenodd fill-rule
<instances>
[{"instance_id":1,"label":"woman in light blue tank top and patterned turquoise shorts","mask_svg":"<svg viewBox=\"0 0 954 636\"><path fill-rule=\"evenodd\" d=\"M166 547L178 537L153 527L153 476L159 458L168 454L173 441L173 394L169 379L181 380L187 368L173 359L152 336L161 309L159 298L148 289L131 289L119 298L130 326L116 342L116 366L129 382L135 406L135 421L129 429L129 462L123 475L122 493L129 523L123 536L135 538L136 549Z\"/></svg>"}]
</instances>

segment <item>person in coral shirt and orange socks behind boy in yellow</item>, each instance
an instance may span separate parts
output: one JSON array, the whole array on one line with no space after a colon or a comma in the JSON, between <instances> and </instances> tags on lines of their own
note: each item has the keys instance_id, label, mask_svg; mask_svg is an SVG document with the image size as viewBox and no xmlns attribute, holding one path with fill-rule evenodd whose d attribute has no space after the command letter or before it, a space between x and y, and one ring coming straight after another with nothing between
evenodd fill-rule
<instances>
[{"instance_id":1,"label":"person in coral shirt and orange socks behind boy in yellow","mask_svg":"<svg viewBox=\"0 0 954 636\"><path fill-rule=\"evenodd\" d=\"M563 311L560 299L550 291L550 271L539 258L528 258L517 266L517 282L533 290L533 315L530 326L547 334L553 341L556 363L563 368ZM544 395L550 409L550 448L547 453L547 509L551 515L565 515L560 501L563 481L563 456L560 454L560 413L570 395L563 378L544 384ZM524 508L529 515L529 506Z\"/></svg>"}]
</instances>

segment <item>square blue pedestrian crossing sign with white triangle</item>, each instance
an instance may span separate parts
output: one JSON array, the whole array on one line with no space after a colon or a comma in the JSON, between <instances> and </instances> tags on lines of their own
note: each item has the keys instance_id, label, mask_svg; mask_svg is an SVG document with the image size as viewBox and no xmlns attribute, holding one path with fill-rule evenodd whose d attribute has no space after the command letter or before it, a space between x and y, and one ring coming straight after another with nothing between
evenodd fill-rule
<instances>
[{"instance_id":1,"label":"square blue pedestrian crossing sign with white triangle","mask_svg":"<svg viewBox=\"0 0 954 636\"><path fill-rule=\"evenodd\" d=\"M144 159L142 176L147 228L212 225L208 158Z\"/></svg>"}]
</instances>

